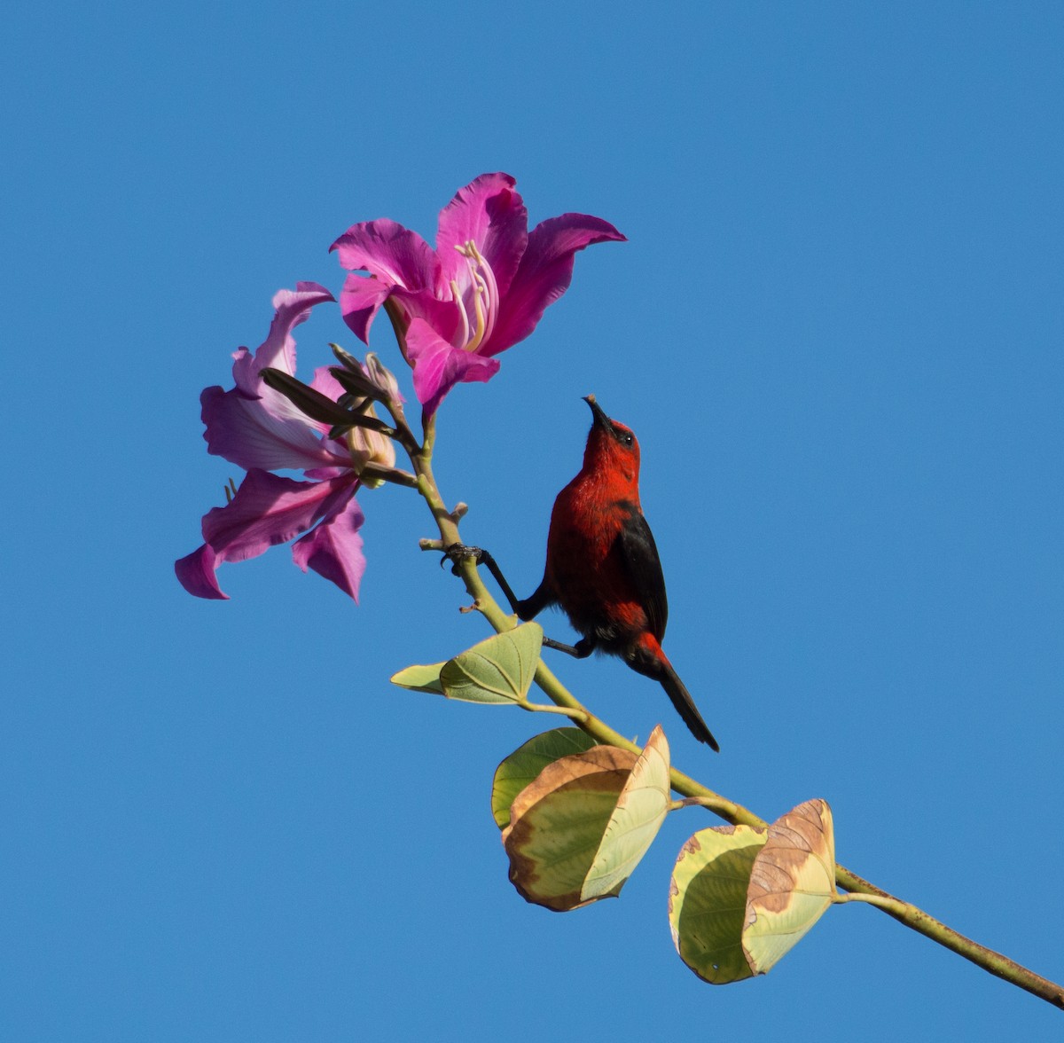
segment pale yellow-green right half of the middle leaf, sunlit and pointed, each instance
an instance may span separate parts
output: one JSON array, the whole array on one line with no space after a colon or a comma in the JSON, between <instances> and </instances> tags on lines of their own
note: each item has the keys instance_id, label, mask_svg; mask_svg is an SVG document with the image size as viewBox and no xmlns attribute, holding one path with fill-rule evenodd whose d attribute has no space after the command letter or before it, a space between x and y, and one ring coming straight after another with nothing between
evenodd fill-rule
<instances>
[{"instance_id":1,"label":"pale yellow-green right half of the middle leaf, sunlit and pointed","mask_svg":"<svg viewBox=\"0 0 1064 1043\"><path fill-rule=\"evenodd\" d=\"M619 893L661 829L671 800L669 750L661 725L654 728L617 798L580 897Z\"/></svg>"}]
</instances>

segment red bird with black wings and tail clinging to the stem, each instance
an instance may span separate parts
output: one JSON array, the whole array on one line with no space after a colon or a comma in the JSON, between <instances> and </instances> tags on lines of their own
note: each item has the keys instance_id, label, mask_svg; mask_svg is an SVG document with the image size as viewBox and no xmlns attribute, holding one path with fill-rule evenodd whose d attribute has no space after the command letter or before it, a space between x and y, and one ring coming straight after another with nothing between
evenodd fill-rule
<instances>
[{"instance_id":1,"label":"red bird with black wings and tail clinging to the stem","mask_svg":"<svg viewBox=\"0 0 1064 1043\"><path fill-rule=\"evenodd\" d=\"M662 650L668 600L653 533L639 503L639 444L631 428L610 419L587 395L592 428L583 466L558 494L547 535L543 581L518 599L492 556L473 552L488 566L518 618L528 620L558 606L581 634L575 646L544 644L578 659L593 651L618 656L633 670L658 681L691 733L719 751L691 693ZM448 557L451 557L448 553Z\"/></svg>"}]
</instances>

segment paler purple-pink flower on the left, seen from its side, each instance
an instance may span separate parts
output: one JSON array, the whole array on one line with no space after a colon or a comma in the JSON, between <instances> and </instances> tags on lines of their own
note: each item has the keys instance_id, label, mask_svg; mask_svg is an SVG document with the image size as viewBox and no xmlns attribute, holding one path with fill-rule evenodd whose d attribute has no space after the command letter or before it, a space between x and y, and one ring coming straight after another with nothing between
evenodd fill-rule
<instances>
[{"instance_id":1,"label":"paler purple-pink flower on the left, seen from its side","mask_svg":"<svg viewBox=\"0 0 1064 1043\"><path fill-rule=\"evenodd\" d=\"M301 413L260 377L267 366L295 375L293 329L315 305L333 300L314 282L279 291L269 335L253 355L247 348L233 355L235 386L207 387L200 396L207 450L248 474L226 507L203 515L203 545L174 564L189 594L227 598L215 575L218 565L254 558L306 533L293 546L296 564L303 572L313 568L358 600L366 567L359 534L365 516L354 500L359 468L367 460L390 466L395 448L389 438L361 428L346 444L330 438L328 424ZM311 386L333 400L344 392L325 367ZM270 474L278 468L301 469L310 480Z\"/></svg>"}]
</instances>

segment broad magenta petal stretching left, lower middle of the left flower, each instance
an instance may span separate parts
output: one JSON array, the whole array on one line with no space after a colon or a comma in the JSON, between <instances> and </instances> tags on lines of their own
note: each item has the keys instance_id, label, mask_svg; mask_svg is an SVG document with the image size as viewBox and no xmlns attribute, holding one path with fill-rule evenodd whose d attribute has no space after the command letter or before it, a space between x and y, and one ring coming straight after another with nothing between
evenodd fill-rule
<instances>
[{"instance_id":1,"label":"broad magenta petal stretching left, lower middle of the left flower","mask_svg":"<svg viewBox=\"0 0 1064 1043\"><path fill-rule=\"evenodd\" d=\"M350 471L323 482L300 482L249 470L231 503L203 515L203 539L219 562L244 561L306 532L354 495Z\"/></svg>"}]
</instances>

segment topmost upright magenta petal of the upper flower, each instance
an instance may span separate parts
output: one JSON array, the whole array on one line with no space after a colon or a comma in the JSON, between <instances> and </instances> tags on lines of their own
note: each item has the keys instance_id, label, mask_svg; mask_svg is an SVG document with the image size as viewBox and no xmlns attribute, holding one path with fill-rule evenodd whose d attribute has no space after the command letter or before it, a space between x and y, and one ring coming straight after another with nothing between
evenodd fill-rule
<instances>
[{"instance_id":1,"label":"topmost upright magenta petal of the upper flower","mask_svg":"<svg viewBox=\"0 0 1064 1043\"><path fill-rule=\"evenodd\" d=\"M529 212L514 191L516 183L509 173L482 173L439 212L436 252L448 282L468 284L468 265L458 248L472 242L491 266L498 292L510 288L529 237Z\"/></svg>"}]
</instances>

